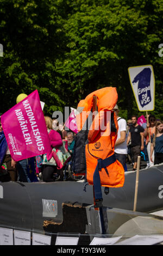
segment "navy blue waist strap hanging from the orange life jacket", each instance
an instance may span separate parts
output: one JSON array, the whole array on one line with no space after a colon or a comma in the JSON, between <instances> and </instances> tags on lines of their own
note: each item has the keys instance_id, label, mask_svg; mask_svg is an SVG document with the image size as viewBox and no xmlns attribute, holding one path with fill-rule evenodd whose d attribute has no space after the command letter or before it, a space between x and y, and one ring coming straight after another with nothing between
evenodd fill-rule
<instances>
[{"instance_id":1,"label":"navy blue waist strap hanging from the orange life jacket","mask_svg":"<svg viewBox=\"0 0 163 256\"><path fill-rule=\"evenodd\" d=\"M97 166L95 169L95 172L93 174L93 185L95 190L95 202L102 201L102 190L101 190L101 180L99 176L99 171L102 170L102 168L105 169L105 172L108 174L108 170L106 169L106 166L109 166L111 163L114 163L116 161L115 154L107 157L106 159L98 159L97 160Z\"/></svg>"}]
</instances>

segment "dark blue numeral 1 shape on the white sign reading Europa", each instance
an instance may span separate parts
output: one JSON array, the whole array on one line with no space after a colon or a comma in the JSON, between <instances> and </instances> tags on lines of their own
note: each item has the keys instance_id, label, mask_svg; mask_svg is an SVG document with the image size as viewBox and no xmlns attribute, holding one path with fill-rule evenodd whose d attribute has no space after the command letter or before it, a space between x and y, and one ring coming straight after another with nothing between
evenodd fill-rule
<instances>
[{"instance_id":1,"label":"dark blue numeral 1 shape on the white sign reading Europa","mask_svg":"<svg viewBox=\"0 0 163 256\"><path fill-rule=\"evenodd\" d=\"M151 99L151 69L145 68L139 74L134 77L133 83L138 83L137 94L139 96L139 102L142 107L149 104L152 101Z\"/></svg>"}]
</instances>

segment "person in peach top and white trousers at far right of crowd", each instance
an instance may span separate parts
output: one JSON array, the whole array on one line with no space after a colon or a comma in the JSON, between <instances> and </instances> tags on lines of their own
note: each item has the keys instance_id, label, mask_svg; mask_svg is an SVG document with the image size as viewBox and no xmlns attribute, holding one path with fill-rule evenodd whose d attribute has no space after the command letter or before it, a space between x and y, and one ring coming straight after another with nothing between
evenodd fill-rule
<instances>
[{"instance_id":1,"label":"person in peach top and white trousers at far right of crowd","mask_svg":"<svg viewBox=\"0 0 163 256\"><path fill-rule=\"evenodd\" d=\"M146 147L147 147L147 153L148 153L148 159L149 159L149 167L152 167L154 165L154 151L152 154L152 160L151 161L151 143L149 139L149 134L152 137L155 133L155 125L156 125L156 118L154 115L149 116L149 123L147 123L147 127L145 129L145 138L146 138Z\"/></svg>"}]
</instances>

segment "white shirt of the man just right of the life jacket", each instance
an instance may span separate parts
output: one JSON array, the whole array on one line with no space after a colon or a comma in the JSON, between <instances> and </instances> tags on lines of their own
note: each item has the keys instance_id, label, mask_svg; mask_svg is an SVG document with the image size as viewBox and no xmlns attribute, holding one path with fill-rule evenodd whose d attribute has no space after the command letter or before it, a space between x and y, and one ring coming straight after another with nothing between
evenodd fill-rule
<instances>
[{"instance_id":1,"label":"white shirt of the man just right of the life jacket","mask_svg":"<svg viewBox=\"0 0 163 256\"><path fill-rule=\"evenodd\" d=\"M118 134L117 134L117 140L121 137L121 132L122 131L126 131L127 129L127 123L126 123L126 120L124 120L123 118L120 119L121 117L118 117ZM126 139L123 143L117 145L115 147L115 153L117 154L126 154L127 155L127 136L126 136Z\"/></svg>"}]
</instances>

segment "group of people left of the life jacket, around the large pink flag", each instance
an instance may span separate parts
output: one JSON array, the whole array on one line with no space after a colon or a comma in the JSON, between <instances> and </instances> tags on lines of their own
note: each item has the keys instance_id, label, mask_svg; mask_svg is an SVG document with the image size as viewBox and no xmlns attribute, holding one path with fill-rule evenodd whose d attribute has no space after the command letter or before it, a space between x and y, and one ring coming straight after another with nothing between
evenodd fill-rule
<instances>
[{"instance_id":1,"label":"group of people left of the life jacket, around the large pink flag","mask_svg":"<svg viewBox=\"0 0 163 256\"><path fill-rule=\"evenodd\" d=\"M0 182L36 182L40 180L39 176L44 182L55 181L58 177L63 180L63 169L57 168L52 150L59 149L66 141L67 149L65 150L71 159L74 148L74 132L65 131L64 126L60 127L58 122L56 124L56 120L52 120L50 117L45 116L45 123L51 143L51 152L15 162L10 155L0 116Z\"/></svg>"}]
</instances>

